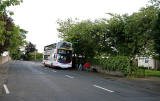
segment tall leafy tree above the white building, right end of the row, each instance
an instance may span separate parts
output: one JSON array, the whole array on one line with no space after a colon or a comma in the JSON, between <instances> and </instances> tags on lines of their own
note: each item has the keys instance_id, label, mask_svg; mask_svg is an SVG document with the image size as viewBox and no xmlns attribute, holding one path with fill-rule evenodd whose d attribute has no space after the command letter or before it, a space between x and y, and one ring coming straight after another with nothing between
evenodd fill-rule
<instances>
[{"instance_id":1,"label":"tall leafy tree above the white building, right end of the row","mask_svg":"<svg viewBox=\"0 0 160 101\"><path fill-rule=\"evenodd\" d=\"M150 44L153 42L150 34L156 13L157 9L149 6L128 17L125 33L128 37L127 41L131 56L151 52L152 45Z\"/></svg>"}]
</instances>

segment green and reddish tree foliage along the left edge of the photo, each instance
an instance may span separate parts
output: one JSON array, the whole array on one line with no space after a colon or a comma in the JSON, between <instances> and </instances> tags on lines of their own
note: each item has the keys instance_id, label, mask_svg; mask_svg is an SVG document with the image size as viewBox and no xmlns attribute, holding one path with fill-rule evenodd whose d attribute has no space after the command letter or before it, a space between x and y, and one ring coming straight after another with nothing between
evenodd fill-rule
<instances>
[{"instance_id":1,"label":"green and reddish tree foliage along the left edge of the photo","mask_svg":"<svg viewBox=\"0 0 160 101\"><path fill-rule=\"evenodd\" d=\"M0 0L0 54L9 51L11 56L23 45L27 31L15 25L7 7L19 5L21 0Z\"/></svg>"}]
</instances>

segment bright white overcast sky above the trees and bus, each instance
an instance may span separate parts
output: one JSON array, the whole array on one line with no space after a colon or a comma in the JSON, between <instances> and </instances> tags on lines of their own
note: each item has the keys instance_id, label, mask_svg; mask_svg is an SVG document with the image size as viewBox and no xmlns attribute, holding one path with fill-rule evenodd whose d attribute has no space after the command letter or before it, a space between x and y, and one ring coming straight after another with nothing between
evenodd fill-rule
<instances>
[{"instance_id":1,"label":"bright white overcast sky above the trees and bus","mask_svg":"<svg viewBox=\"0 0 160 101\"><path fill-rule=\"evenodd\" d=\"M148 0L23 0L19 6L10 7L16 25L28 31L27 41L43 47L60 41L58 19L109 18L106 13L132 14L145 7Z\"/></svg>"}]
</instances>

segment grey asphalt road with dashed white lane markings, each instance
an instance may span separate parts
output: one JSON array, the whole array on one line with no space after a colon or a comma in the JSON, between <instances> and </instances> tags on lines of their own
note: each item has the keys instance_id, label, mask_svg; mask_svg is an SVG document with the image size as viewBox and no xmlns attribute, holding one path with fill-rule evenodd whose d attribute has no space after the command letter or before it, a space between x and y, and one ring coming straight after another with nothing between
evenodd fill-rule
<instances>
[{"instance_id":1,"label":"grey asphalt road with dashed white lane markings","mask_svg":"<svg viewBox=\"0 0 160 101\"><path fill-rule=\"evenodd\" d=\"M14 61L0 101L159 101L160 93L107 79L98 73L46 68Z\"/></svg>"}]
</instances>

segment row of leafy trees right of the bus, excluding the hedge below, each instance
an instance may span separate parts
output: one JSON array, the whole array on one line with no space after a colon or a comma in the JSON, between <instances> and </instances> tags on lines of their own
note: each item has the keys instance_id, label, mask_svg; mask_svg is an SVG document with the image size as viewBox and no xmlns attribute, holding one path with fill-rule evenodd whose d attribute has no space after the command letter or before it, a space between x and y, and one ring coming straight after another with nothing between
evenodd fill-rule
<instances>
[{"instance_id":1,"label":"row of leafy trees right of the bus, excluding the hedge below","mask_svg":"<svg viewBox=\"0 0 160 101\"><path fill-rule=\"evenodd\" d=\"M59 37L73 44L76 54L94 57L152 55L152 25L159 9L153 5L132 15L111 14L109 20L58 21Z\"/></svg>"}]
</instances>

